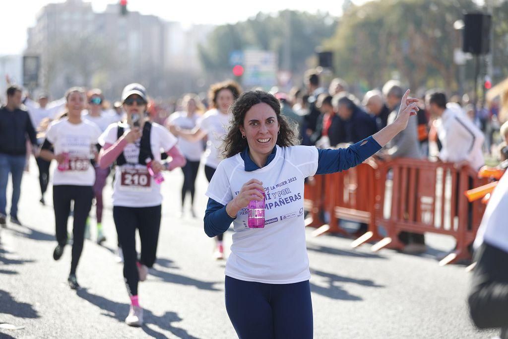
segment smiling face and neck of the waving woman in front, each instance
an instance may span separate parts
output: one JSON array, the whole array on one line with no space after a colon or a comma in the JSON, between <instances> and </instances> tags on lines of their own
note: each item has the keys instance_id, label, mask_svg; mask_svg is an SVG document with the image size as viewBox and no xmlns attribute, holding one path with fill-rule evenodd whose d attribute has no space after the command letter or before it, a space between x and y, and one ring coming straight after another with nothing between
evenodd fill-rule
<instances>
[{"instance_id":1,"label":"smiling face and neck of the waving woman in front","mask_svg":"<svg viewBox=\"0 0 508 339\"><path fill-rule=\"evenodd\" d=\"M252 106L243 119L240 132L245 136L252 158L268 157L277 143L277 114L265 103ZM255 160L255 159L252 159Z\"/></svg>"}]
</instances>

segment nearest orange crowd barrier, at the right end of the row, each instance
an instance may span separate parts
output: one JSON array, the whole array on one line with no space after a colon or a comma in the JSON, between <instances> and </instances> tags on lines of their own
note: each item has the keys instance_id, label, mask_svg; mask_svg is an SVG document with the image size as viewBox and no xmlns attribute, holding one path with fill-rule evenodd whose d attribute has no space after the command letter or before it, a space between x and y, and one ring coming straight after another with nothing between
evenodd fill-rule
<instances>
[{"instance_id":1,"label":"nearest orange crowd barrier, at the right end of the row","mask_svg":"<svg viewBox=\"0 0 508 339\"><path fill-rule=\"evenodd\" d=\"M457 240L454 253L441 260L440 265L470 258L469 246L485 205L481 201L468 202L463 193L488 179L478 178L471 168L457 169L449 163L416 159L396 159L382 164L378 171L376 184L381 198L375 204L375 219L386 228L387 237L373 245L372 251L387 246L402 249L404 245L398 239L401 231L433 232ZM389 210L385 211L385 207Z\"/></svg>"}]
</instances>

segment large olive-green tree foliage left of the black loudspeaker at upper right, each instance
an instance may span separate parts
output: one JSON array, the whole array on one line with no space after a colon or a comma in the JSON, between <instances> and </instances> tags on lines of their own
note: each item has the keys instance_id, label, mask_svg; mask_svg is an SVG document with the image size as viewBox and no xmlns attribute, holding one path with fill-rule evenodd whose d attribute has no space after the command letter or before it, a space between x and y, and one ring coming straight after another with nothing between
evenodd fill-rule
<instances>
[{"instance_id":1,"label":"large olive-green tree foliage left of the black loudspeaker at upper right","mask_svg":"<svg viewBox=\"0 0 508 339\"><path fill-rule=\"evenodd\" d=\"M380 86L398 72L411 88L456 90L454 22L475 8L471 0L383 0L351 7L325 46L334 50L336 73L350 83Z\"/></svg>"}]
</instances>

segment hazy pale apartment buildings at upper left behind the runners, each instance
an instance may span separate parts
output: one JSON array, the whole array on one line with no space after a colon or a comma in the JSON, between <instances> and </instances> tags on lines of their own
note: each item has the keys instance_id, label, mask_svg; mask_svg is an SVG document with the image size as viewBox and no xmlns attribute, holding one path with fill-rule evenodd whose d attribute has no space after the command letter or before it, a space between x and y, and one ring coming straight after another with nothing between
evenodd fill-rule
<instances>
[{"instance_id":1,"label":"hazy pale apartment buildings at upper left behind the runners","mask_svg":"<svg viewBox=\"0 0 508 339\"><path fill-rule=\"evenodd\" d=\"M83 0L48 4L28 29L25 54L41 56L40 83L53 96L70 86L100 87L117 98L129 82L146 85L154 97L178 96L194 83L178 86L201 72L198 43L213 26L183 27L153 15L120 15L118 4L93 12ZM180 81L183 79L180 79Z\"/></svg>"}]
</instances>

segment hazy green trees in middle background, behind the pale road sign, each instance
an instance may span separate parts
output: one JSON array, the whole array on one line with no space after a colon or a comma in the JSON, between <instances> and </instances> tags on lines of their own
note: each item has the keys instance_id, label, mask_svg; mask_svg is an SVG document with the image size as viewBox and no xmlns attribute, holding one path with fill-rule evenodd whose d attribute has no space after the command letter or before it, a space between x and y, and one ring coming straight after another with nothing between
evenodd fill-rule
<instances>
[{"instance_id":1,"label":"hazy green trees in middle background, behind the pale road sign","mask_svg":"<svg viewBox=\"0 0 508 339\"><path fill-rule=\"evenodd\" d=\"M276 51L280 69L302 72L315 48L331 37L336 27L337 20L326 13L258 13L247 21L216 27L206 44L199 46L200 58L210 75L231 73L232 51L258 48Z\"/></svg>"}]
</instances>

